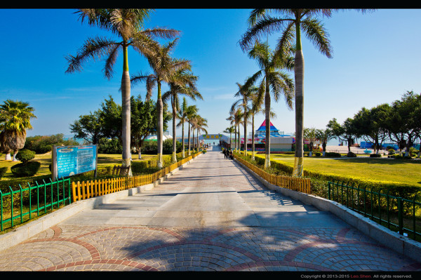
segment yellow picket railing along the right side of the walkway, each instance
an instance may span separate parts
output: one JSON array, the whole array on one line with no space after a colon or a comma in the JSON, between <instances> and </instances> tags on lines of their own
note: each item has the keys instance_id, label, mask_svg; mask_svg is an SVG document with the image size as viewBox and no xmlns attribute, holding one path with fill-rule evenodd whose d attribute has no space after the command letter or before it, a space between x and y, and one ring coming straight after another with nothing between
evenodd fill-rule
<instances>
[{"instance_id":1,"label":"yellow picket railing along the right side of the walkway","mask_svg":"<svg viewBox=\"0 0 421 280\"><path fill-rule=\"evenodd\" d=\"M269 174L238 156L235 156L235 159L272 185L284 187L286 189L293 189L297 192L304 192L305 194L310 194L311 192L310 178Z\"/></svg>"}]
</instances>

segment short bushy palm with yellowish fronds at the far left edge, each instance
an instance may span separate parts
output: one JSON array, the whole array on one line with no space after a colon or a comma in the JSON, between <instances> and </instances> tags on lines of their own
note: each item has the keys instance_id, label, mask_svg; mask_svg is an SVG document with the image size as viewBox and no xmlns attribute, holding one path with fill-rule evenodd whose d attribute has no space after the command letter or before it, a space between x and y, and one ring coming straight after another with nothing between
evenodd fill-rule
<instances>
[{"instance_id":1,"label":"short bushy palm with yellowish fronds at the far left edge","mask_svg":"<svg viewBox=\"0 0 421 280\"><path fill-rule=\"evenodd\" d=\"M31 129L30 120L36 118L34 108L22 101L6 100L0 105L0 148L6 153L6 160L17 161L18 150L25 146L26 130Z\"/></svg>"}]
</instances>

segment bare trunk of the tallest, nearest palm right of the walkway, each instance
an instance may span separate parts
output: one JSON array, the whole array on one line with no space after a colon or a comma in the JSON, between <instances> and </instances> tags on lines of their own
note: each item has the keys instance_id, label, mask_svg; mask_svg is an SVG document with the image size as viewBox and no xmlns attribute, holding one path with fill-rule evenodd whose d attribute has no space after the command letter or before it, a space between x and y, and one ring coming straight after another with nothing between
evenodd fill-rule
<instances>
[{"instance_id":1,"label":"bare trunk of the tallest, nearest palm right of the walkway","mask_svg":"<svg viewBox=\"0 0 421 280\"><path fill-rule=\"evenodd\" d=\"M302 177L303 116L304 116L304 55L301 49L300 25L296 27L297 51L295 52L295 161L293 176Z\"/></svg>"}]
</instances>

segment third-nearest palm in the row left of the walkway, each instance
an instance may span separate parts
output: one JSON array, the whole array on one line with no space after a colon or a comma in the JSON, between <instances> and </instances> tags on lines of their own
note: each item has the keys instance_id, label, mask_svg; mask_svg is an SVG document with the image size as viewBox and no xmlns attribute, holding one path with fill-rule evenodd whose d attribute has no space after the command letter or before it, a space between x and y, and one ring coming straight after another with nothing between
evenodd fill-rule
<instances>
[{"instance_id":1,"label":"third-nearest palm in the row left of the walkway","mask_svg":"<svg viewBox=\"0 0 421 280\"><path fill-rule=\"evenodd\" d=\"M173 76L171 76L171 81L169 82L170 90L162 95L162 100L165 102L168 98L171 98L171 107L173 109L173 163L177 162L176 156L176 138L175 138L175 121L177 119L177 112L180 109L179 104L179 95L187 95L189 98L196 100L200 98L203 100L203 97L197 91L196 81L197 76L194 76L188 70L190 65L186 69L179 69Z\"/></svg>"}]
</instances>

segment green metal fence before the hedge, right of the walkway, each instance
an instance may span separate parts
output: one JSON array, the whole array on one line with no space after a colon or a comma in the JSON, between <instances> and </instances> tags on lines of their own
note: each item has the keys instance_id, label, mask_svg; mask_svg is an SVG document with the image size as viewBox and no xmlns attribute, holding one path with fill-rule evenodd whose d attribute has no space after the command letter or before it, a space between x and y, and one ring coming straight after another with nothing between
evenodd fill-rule
<instances>
[{"instance_id":1,"label":"green metal fence before the hedge, right of the walkway","mask_svg":"<svg viewBox=\"0 0 421 280\"><path fill-rule=\"evenodd\" d=\"M415 195L412 200L389 195L389 192L373 192L373 189L354 187L343 182L328 182L328 199L337 201L385 227L408 236L420 239L417 230L421 203Z\"/></svg>"}]
</instances>

